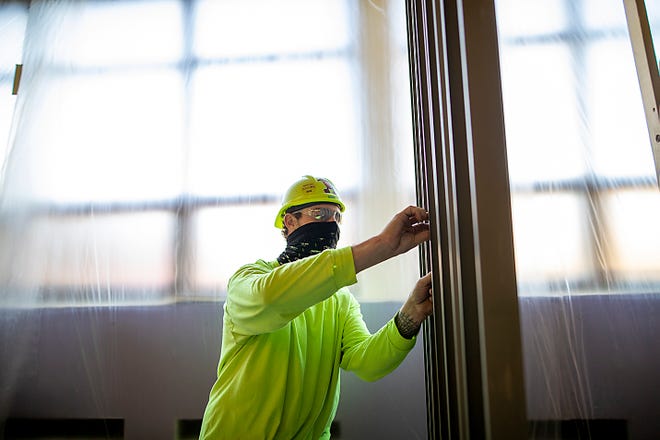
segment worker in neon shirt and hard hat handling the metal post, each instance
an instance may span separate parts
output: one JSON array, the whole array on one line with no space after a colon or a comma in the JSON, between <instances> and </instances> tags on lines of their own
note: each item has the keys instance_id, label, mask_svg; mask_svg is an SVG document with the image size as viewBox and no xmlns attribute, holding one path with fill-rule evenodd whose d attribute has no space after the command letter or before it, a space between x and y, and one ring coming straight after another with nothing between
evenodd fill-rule
<instances>
[{"instance_id":1,"label":"worker in neon shirt and hard hat handling the metal post","mask_svg":"<svg viewBox=\"0 0 660 440\"><path fill-rule=\"evenodd\" d=\"M339 369L374 381L412 350L433 310L430 274L374 334L347 286L357 273L427 241L428 213L409 206L378 235L337 249L344 211L330 180L304 176L275 218L284 252L230 278L218 376L200 439L328 439Z\"/></svg>"}]
</instances>

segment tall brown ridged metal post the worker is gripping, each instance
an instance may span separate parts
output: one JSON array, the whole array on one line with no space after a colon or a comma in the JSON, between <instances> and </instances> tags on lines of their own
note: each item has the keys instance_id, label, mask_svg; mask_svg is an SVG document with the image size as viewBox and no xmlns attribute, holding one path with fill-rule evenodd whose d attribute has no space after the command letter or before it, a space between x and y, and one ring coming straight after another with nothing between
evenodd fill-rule
<instances>
[{"instance_id":1,"label":"tall brown ridged metal post the worker is gripping","mask_svg":"<svg viewBox=\"0 0 660 440\"><path fill-rule=\"evenodd\" d=\"M431 216L428 433L526 435L494 4L409 0L419 202Z\"/></svg>"}]
</instances>

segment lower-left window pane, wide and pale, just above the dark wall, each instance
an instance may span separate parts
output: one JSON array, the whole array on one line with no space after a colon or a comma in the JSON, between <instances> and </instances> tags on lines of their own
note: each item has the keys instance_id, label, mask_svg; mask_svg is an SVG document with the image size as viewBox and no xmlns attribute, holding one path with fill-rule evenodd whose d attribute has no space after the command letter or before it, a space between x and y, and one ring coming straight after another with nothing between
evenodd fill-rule
<instances>
[{"instance_id":1,"label":"lower-left window pane, wide and pale, just above the dark wall","mask_svg":"<svg viewBox=\"0 0 660 440\"><path fill-rule=\"evenodd\" d=\"M169 295L174 223L167 213L62 213L2 226L12 257L3 254L0 281L10 304L128 304ZM40 298L44 286L51 293Z\"/></svg>"}]
</instances>

